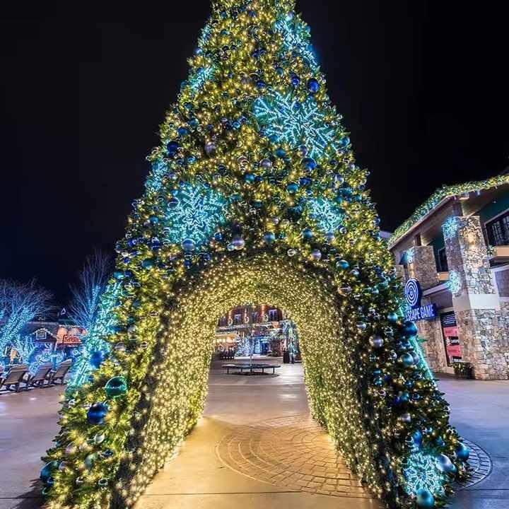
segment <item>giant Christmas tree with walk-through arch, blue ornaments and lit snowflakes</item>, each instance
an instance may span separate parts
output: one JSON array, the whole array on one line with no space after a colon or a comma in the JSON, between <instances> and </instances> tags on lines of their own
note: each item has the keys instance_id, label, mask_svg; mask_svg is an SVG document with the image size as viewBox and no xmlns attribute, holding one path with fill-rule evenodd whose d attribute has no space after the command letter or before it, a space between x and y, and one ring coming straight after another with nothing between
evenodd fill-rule
<instances>
[{"instance_id":1,"label":"giant Christmas tree with walk-through arch, blue ornaments and lit snowflakes","mask_svg":"<svg viewBox=\"0 0 509 509\"><path fill-rule=\"evenodd\" d=\"M218 317L296 324L312 415L390 508L441 506L468 451L403 322L293 0L215 0L42 470L49 508L130 507L201 415Z\"/></svg>"}]
</instances>

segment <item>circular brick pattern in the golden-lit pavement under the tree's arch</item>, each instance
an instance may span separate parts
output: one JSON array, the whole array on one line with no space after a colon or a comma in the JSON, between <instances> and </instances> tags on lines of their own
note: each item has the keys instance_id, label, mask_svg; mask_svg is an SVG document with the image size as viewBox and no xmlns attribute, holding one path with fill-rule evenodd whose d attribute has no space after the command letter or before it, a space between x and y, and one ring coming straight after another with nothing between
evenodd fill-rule
<instances>
[{"instance_id":1,"label":"circular brick pattern in the golden-lit pavement under the tree's arch","mask_svg":"<svg viewBox=\"0 0 509 509\"><path fill-rule=\"evenodd\" d=\"M292 491L374 498L308 415L238 426L216 453L227 467L257 481Z\"/></svg>"}]
</instances>

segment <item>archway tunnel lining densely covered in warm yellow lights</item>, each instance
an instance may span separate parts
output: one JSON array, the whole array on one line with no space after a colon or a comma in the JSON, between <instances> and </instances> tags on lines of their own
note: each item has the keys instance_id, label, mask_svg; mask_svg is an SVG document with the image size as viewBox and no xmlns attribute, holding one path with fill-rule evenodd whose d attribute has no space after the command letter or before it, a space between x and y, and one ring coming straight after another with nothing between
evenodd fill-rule
<instances>
[{"instance_id":1,"label":"archway tunnel lining densely covered in warm yellow lights","mask_svg":"<svg viewBox=\"0 0 509 509\"><path fill-rule=\"evenodd\" d=\"M142 387L144 409L134 414L136 433L120 470L119 484L122 476L130 478L129 493L124 493L128 501L138 498L201 416L218 318L235 305L260 302L286 310L296 324L312 415L351 468L360 474L373 472L356 391L356 363L346 347L348 334L337 296L328 290L326 279L286 259L259 254L223 259L206 269L166 310ZM355 443L354 450L342 447L347 438Z\"/></svg>"}]
</instances>

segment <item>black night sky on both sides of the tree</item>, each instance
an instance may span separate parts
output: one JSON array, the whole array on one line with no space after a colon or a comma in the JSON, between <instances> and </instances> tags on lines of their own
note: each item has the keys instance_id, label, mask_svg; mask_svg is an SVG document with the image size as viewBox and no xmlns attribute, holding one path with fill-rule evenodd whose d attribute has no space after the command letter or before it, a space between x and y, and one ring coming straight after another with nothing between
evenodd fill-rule
<instances>
[{"instance_id":1,"label":"black night sky on both sides of the tree","mask_svg":"<svg viewBox=\"0 0 509 509\"><path fill-rule=\"evenodd\" d=\"M83 259L124 234L209 14L208 0L165 4L3 13L0 277L36 277L63 304ZM509 164L499 2L297 4L357 161L371 171L382 228L435 188Z\"/></svg>"}]
</instances>

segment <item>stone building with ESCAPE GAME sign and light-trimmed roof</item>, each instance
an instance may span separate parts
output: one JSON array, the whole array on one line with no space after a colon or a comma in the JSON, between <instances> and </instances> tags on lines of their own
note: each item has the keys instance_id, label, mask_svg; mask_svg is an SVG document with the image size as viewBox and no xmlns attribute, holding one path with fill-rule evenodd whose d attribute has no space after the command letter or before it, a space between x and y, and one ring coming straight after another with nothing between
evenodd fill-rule
<instances>
[{"instance_id":1,"label":"stone building with ESCAPE GAME sign and light-trimmed roof","mask_svg":"<svg viewBox=\"0 0 509 509\"><path fill-rule=\"evenodd\" d=\"M388 241L432 370L509 378L509 175L442 187Z\"/></svg>"}]
</instances>

